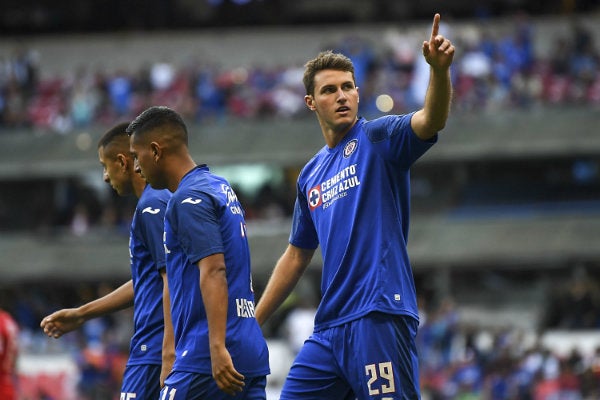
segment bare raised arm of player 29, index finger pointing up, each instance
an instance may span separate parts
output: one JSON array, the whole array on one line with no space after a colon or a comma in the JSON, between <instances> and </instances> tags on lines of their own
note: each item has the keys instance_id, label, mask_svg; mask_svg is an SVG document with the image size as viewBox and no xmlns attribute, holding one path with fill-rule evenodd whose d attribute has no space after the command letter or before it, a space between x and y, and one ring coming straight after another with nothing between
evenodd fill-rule
<instances>
[{"instance_id":1,"label":"bare raised arm of player 29, index finger pointing up","mask_svg":"<svg viewBox=\"0 0 600 400\"><path fill-rule=\"evenodd\" d=\"M446 126L452 99L450 65L454 58L454 46L439 34L440 15L433 17L431 36L423 42L423 57L430 66L429 86L423 108L417 111L411 126L423 140L432 138Z\"/></svg>"}]
</instances>

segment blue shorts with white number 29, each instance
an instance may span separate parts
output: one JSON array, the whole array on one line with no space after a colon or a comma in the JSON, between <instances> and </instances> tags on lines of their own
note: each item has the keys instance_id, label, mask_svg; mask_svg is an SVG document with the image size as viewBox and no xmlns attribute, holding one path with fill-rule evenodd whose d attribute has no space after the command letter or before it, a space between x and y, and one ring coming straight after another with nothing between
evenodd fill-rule
<instances>
[{"instance_id":1,"label":"blue shorts with white number 29","mask_svg":"<svg viewBox=\"0 0 600 400\"><path fill-rule=\"evenodd\" d=\"M280 400L420 399L417 320L371 313L314 332L296 356Z\"/></svg>"}]
</instances>

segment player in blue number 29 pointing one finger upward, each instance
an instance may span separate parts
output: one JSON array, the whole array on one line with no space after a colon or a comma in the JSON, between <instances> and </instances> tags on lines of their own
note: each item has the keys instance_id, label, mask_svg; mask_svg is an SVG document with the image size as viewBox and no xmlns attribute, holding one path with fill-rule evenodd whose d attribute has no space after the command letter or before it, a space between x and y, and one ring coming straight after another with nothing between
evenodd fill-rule
<instances>
[{"instance_id":1,"label":"player in blue number 29 pointing one finger upward","mask_svg":"<svg viewBox=\"0 0 600 400\"><path fill-rule=\"evenodd\" d=\"M342 54L306 64L305 103L326 146L302 169L289 245L256 308L259 323L290 294L321 246L322 298L281 399L418 399L414 279L406 243L409 168L437 140L451 99L454 47L436 14L422 52L430 81L422 109L358 117L354 68Z\"/></svg>"}]
</instances>

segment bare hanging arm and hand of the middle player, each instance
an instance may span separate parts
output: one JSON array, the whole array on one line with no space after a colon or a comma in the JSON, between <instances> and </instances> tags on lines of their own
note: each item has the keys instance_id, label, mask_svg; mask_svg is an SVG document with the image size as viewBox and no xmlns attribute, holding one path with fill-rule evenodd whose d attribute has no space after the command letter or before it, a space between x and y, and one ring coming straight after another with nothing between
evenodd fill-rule
<instances>
[{"instance_id":1,"label":"bare hanging arm and hand of the middle player","mask_svg":"<svg viewBox=\"0 0 600 400\"><path fill-rule=\"evenodd\" d=\"M208 338L212 373L217 386L234 395L242 390L244 376L236 371L225 347L227 330L228 286L223 253L203 258L200 268L200 291L208 319Z\"/></svg>"}]
</instances>

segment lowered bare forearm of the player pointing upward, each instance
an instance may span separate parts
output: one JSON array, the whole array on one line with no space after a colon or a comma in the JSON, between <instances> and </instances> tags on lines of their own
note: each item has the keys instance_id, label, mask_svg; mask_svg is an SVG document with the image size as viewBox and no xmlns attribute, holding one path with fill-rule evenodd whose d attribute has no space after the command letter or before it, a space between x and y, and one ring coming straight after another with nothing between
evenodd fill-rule
<instances>
[{"instance_id":1,"label":"lowered bare forearm of the player pointing upward","mask_svg":"<svg viewBox=\"0 0 600 400\"><path fill-rule=\"evenodd\" d=\"M290 295L306 270L315 251L289 244L277 261L260 301L256 305L256 320L263 324Z\"/></svg>"}]
</instances>

